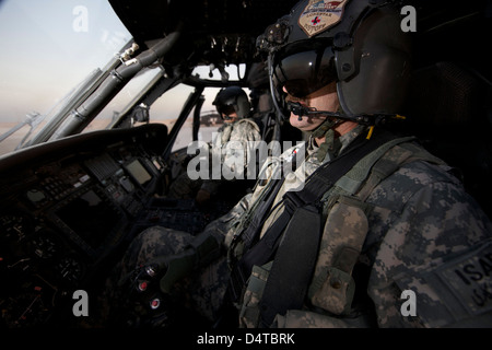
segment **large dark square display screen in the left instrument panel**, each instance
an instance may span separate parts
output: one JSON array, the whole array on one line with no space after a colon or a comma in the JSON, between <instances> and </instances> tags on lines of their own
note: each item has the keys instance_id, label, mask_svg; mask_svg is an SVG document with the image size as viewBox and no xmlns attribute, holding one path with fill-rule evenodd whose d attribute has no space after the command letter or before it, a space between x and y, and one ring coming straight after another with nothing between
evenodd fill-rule
<instances>
[{"instance_id":1,"label":"large dark square display screen in the left instrument panel","mask_svg":"<svg viewBox=\"0 0 492 350\"><path fill-rule=\"evenodd\" d=\"M93 248L97 248L119 220L116 209L94 190L60 208L56 215Z\"/></svg>"}]
</instances>

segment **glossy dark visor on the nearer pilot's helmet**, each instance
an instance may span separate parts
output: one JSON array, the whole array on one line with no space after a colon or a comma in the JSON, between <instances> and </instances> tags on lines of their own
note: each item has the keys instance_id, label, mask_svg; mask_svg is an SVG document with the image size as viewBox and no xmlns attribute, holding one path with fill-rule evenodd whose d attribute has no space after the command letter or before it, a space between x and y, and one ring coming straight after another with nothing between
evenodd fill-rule
<instances>
[{"instance_id":1,"label":"glossy dark visor on the nearer pilot's helmet","mask_svg":"<svg viewBox=\"0 0 492 350\"><path fill-rule=\"evenodd\" d=\"M292 96L305 97L337 80L331 46L276 56L272 79L278 91L285 89Z\"/></svg>"}]
</instances>

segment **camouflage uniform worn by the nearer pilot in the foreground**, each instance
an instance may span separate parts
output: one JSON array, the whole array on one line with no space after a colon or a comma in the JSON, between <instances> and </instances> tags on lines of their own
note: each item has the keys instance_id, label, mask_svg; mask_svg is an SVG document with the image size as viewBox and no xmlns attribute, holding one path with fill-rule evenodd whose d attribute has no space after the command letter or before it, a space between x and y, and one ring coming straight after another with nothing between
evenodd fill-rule
<instances>
[{"instance_id":1,"label":"camouflage uniform worn by the nearer pilot in the foreground","mask_svg":"<svg viewBox=\"0 0 492 350\"><path fill-rule=\"evenodd\" d=\"M328 151L308 142L306 166L298 167L291 182L285 180L276 201L298 185L303 178L301 172L312 174L364 131L359 126L342 136L336 149ZM281 158L289 160L295 150L285 151ZM419 145L410 142L389 149L382 164L401 166L389 176L377 172L368 178L362 176L360 182L364 186L359 188L356 198L344 196L343 186L326 194L323 200L326 224L307 301L302 310L277 315L272 326L491 326L491 222L461 184L448 174L448 166L412 158L412 152L419 150ZM272 160L262 171L273 174L278 164ZM351 182L345 178L344 184L350 187ZM233 237L247 223L245 218L255 210L255 203L269 185L269 180L259 182L253 194L206 230L224 236L225 246L231 247ZM270 214L262 232L281 210L279 207ZM167 245L167 234L154 236L162 231L155 230L144 232L132 249L148 252L144 242L149 236L152 246ZM344 246L359 250L356 264L349 271L333 264ZM160 253L151 255L154 254ZM206 278L200 279L204 284L196 305L208 306L204 314L211 318L216 315L225 292L229 272L224 266L220 259L198 272ZM258 326L259 300L270 267L271 262L254 267L239 311L241 326ZM208 289L213 292L203 293ZM406 299L401 295L406 290L415 293L415 315L402 312Z\"/></svg>"}]
</instances>

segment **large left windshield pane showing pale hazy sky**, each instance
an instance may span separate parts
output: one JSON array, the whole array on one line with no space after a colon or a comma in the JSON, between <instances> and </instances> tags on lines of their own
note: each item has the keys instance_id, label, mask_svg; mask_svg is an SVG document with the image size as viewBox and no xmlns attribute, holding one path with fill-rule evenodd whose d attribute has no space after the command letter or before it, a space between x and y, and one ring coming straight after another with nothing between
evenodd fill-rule
<instances>
[{"instance_id":1,"label":"large left windshield pane showing pale hazy sky","mask_svg":"<svg viewBox=\"0 0 492 350\"><path fill-rule=\"evenodd\" d=\"M108 1L0 1L0 155L131 39Z\"/></svg>"}]
</instances>

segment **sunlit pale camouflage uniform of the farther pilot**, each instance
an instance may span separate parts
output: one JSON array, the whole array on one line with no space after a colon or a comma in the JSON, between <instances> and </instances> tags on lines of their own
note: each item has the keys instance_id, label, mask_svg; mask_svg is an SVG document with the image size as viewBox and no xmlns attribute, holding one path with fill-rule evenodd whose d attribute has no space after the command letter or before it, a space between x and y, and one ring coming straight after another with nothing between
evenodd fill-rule
<instances>
[{"instance_id":1,"label":"sunlit pale camouflage uniform of the farther pilot","mask_svg":"<svg viewBox=\"0 0 492 350\"><path fill-rule=\"evenodd\" d=\"M259 127L249 118L239 119L232 124L224 124L219 128L218 136L211 143L210 165L213 165L212 160L220 160L220 162L214 164L216 168L210 167L210 178L191 180L187 173L183 173L171 185L168 196L172 198L190 198L199 189L204 189L209 194L215 195L221 182L224 179L213 179L212 174L222 174L222 164L247 165L248 147L260 140ZM227 144L227 142L230 143ZM244 159L238 160L238 156ZM232 168L231 171L235 174L235 179L247 177L245 173L247 167Z\"/></svg>"}]
</instances>

